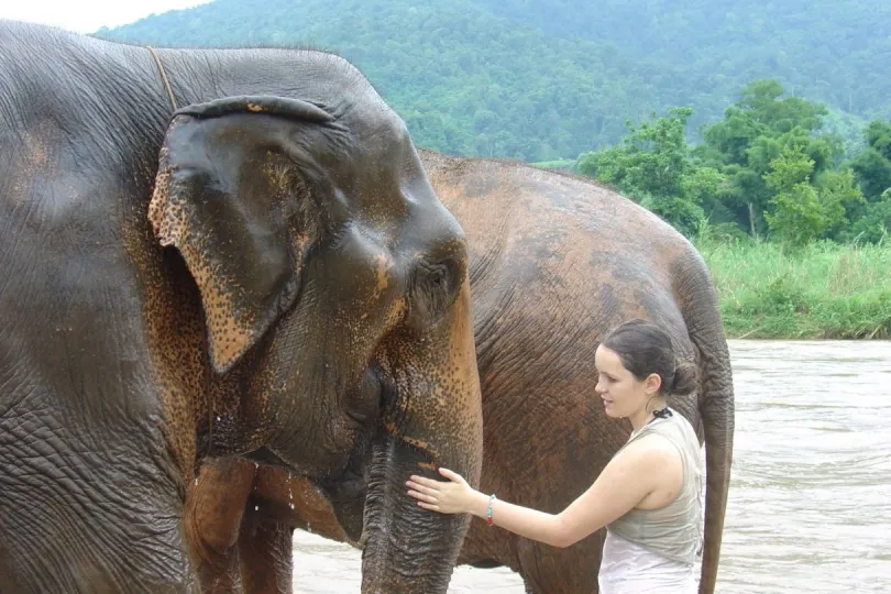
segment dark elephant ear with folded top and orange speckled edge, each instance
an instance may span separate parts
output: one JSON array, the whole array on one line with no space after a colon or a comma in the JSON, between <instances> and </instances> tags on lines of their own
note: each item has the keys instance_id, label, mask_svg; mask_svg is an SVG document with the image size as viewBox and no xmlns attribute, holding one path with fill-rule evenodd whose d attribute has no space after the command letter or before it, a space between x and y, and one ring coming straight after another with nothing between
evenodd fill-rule
<instances>
[{"instance_id":1,"label":"dark elephant ear with folded top and orange speckled edge","mask_svg":"<svg viewBox=\"0 0 891 594\"><path fill-rule=\"evenodd\" d=\"M198 285L218 373L297 298L323 222L312 143L331 124L304 101L231 97L189 106L167 129L148 219Z\"/></svg>"}]
</instances>

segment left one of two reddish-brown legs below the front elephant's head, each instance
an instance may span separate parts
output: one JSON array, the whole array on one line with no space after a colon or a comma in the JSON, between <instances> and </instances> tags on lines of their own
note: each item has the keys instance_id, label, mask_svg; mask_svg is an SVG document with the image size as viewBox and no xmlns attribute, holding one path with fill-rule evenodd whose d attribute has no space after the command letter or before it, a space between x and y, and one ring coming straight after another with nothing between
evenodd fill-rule
<instances>
[{"instance_id":1,"label":"left one of two reddish-brown legs below the front elephant's head","mask_svg":"<svg viewBox=\"0 0 891 594\"><path fill-rule=\"evenodd\" d=\"M255 473L253 462L209 460L188 487L186 539L202 594L241 592L238 543Z\"/></svg>"}]
</instances>

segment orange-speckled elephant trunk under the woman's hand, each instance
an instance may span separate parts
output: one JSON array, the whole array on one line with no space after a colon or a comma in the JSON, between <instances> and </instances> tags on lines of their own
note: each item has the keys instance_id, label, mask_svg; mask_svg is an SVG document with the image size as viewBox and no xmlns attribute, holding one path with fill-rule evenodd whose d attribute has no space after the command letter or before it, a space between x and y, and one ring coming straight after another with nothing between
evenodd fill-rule
<instances>
[{"instance_id":1,"label":"orange-speckled elephant trunk under the woman's hand","mask_svg":"<svg viewBox=\"0 0 891 594\"><path fill-rule=\"evenodd\" d=\"M483 418L466 280L447 317L441 336L395 349L385 362L397 397L372 457L363 594L444 594L469 526L468 516L418 507L405 484L411 474L442 480L439 466L480 481Z\"/></svg>"}]
</instances>

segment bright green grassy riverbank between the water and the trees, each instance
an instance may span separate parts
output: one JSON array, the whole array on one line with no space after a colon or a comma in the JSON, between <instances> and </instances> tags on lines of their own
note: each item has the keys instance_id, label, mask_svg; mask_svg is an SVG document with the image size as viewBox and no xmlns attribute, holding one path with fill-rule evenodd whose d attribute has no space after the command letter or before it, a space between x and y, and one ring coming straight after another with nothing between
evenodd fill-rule
<instances>
[{"instance_id":1,"label":"bright green grassy riverbank between the water and the trees","mask_svg":"<svg viewBox=\"0 0 891 594\"><path fill-rule=\"evenodd\" d=\"M698 242L727 338L891 339L891 243Z\"/></svg>"}]
</instances>

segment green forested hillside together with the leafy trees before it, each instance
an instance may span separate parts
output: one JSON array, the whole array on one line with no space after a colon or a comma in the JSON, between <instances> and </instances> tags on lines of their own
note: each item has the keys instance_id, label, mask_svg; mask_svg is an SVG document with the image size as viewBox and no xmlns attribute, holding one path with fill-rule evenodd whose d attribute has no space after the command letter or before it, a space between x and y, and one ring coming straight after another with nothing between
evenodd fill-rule
<instances>
[{"instance_id":1,"label":"green forested hillside together with the leafy trees before it","mask_svg":"<svg viewBox=\"0 0 891 594\"><path fill-rule=\"evenodd\" d=\"M417 144L572 168L689 237L891 229L887 0L216 0L97 36L332 50Z\"/></svg>"}]
</instances>

